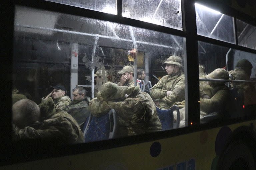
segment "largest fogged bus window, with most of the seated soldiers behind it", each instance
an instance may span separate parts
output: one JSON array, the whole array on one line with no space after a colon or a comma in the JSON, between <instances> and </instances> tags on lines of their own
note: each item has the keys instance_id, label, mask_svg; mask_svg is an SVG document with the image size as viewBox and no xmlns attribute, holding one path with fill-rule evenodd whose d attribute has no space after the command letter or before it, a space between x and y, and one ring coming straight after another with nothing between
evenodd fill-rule
<instances>
[{"instance_id":1,"label":"largest fogged bus window, with most of the seated soldiers behind it","mask_svg":"<svg viewBox=\"0 0 256 170\"><path fill-rule=\"evenodd\" d=\"M185 106L183 41L156 31L16 6L14 139L58 139L66 144L178 128L185 122L185 110L179 112ZM163 86L167 77L173 81ZM156 111L154 102L168 113ZM168 110L174 105L179 107Z\"/></svg>"}]
</instances>

